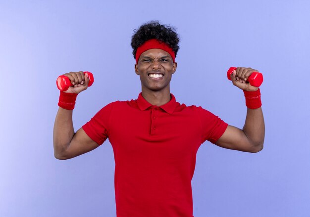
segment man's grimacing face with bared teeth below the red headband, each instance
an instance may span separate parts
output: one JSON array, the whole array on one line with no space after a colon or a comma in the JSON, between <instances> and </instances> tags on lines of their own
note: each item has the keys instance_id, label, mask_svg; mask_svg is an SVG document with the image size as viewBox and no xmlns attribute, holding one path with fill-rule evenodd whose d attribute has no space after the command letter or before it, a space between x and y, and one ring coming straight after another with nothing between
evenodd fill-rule
<instances>
[{"instance_id":1,"label":"man's grimacing face with bared teeth below the red headband","mask_svg":"<svg viewBox=\"0 0 310 217\"><path fill-rule=\"evenodd\" d=\"M143 52L138 64L135 64L135 72L140 75L142 90L160 91L169 90L172 74L177 63L169 53L162 49L149 49Z\"/></svg>"}]
</instances>

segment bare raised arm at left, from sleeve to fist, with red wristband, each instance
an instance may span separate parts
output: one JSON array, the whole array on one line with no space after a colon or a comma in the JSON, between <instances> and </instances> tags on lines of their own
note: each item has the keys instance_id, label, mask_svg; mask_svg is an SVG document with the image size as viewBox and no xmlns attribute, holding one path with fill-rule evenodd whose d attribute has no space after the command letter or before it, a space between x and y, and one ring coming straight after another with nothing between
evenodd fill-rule
<instances>
[{"instance_id":1,"label":"bare raised arm at left, from sleeve to fist, with red wristband","mask_svg":"<svg viewBox=\"0 0 310 217\"><path fill-rule=\"evenodd\" d=\"M74 133L73 129L72 111L75 99L71 102L70 100L72 97L76 97L76 94L87 89L89 79L83 72L70 72L64 75L75 85L64 91L67 94L61 93L60 98L65 97L63 100L65 102L58 104L66 108L59 107L53 129L54 156L59 160L76 157L99 146L82 128L76 133Z\"/></svg>"}]
</instances>

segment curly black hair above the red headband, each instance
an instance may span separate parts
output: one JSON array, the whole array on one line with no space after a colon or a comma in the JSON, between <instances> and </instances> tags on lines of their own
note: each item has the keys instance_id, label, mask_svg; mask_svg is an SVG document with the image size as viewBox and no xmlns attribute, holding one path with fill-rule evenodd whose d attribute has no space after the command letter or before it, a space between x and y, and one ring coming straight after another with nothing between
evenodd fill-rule
<instances>
[{"instance_id":1,"label":"curly black hair above the red headband","mask_svg":"<svg viewBox=\"0 0 310 217\"><path fill-rule=\"evenodd\" d=\"M173 27L161 25L158 21L147 22L140 26L138 30L135 29L134 33L131 38L131 47L135 59L138 47L150 39L158 39L168 44L174 51L175 56L179 50L178 43L180 39L176 30Z\"/></svg>"}]
</instances>

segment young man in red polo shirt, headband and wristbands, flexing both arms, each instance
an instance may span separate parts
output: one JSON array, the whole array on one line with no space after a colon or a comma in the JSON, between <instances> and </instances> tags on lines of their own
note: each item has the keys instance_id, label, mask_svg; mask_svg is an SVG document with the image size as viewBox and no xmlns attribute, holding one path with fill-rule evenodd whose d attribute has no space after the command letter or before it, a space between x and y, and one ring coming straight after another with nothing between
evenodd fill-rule
<instances>
[{"instance_id":1,"label":"young man in red polo shirt, headband and wristbands, flexing both arms","mask_svg":"<svg viewBox=\"0 0 310 217\"><path fill-rule=\"evenodd\" d=\"M241 130L202 107L176 102L169 84L177 69L178 42L169 26L158 22L141 26L131 43L142 86L138 99L106 105L76 133L72 110L89 79L83 72L64 74L74 86L60 91L54 155L61 160L73 158L109 138L115 159L117 217L193 217L191 179L203 142L246 152L262 149L260 93L246 82L256 70L238 67L231 75L233 85L244 90L248 106Z\"/></svg>"}]
</instances>

